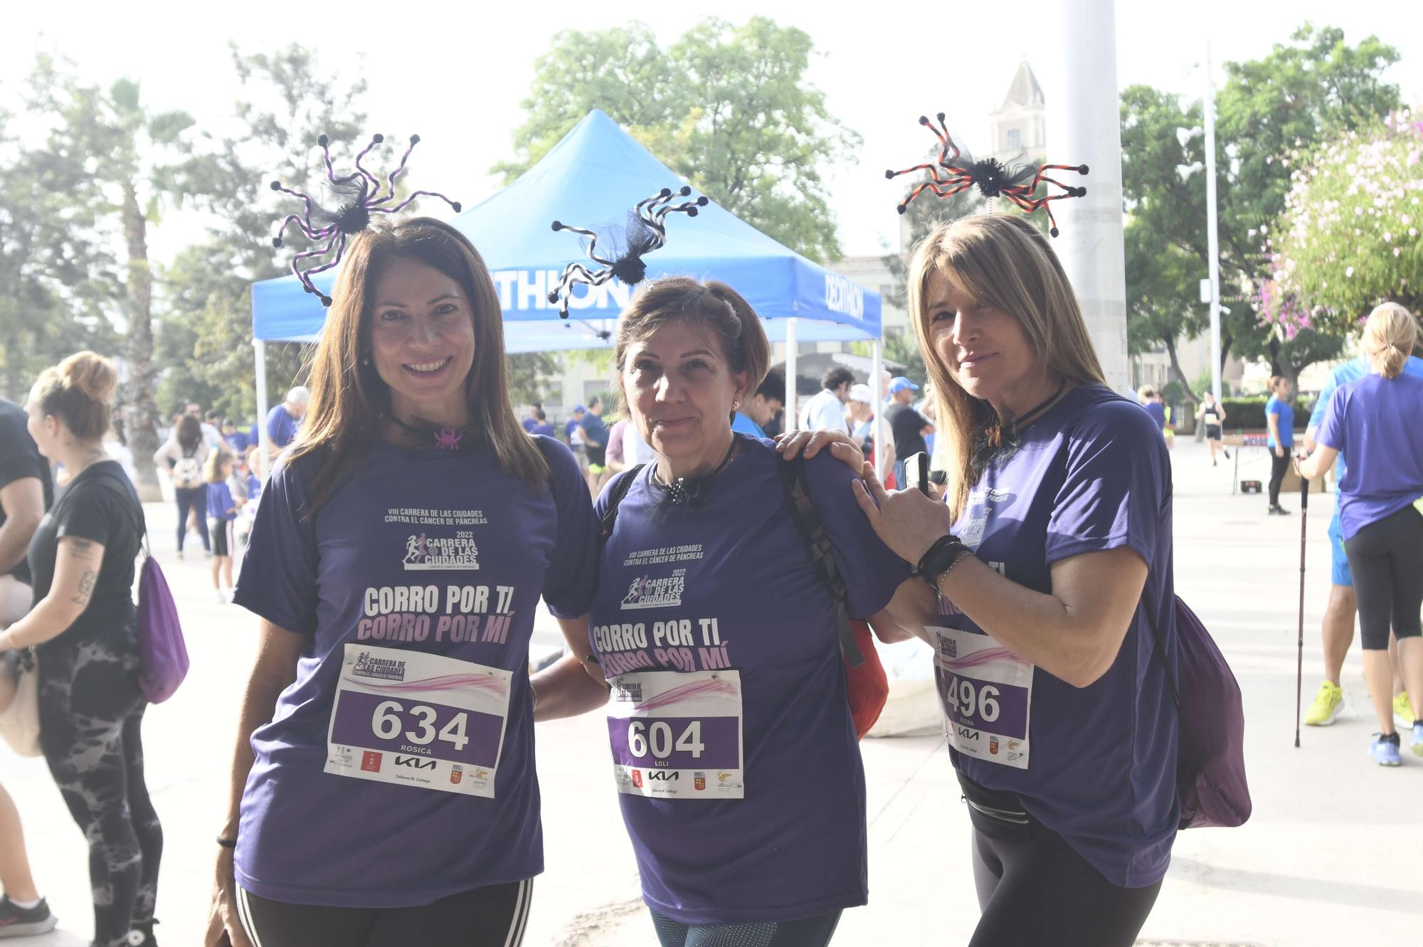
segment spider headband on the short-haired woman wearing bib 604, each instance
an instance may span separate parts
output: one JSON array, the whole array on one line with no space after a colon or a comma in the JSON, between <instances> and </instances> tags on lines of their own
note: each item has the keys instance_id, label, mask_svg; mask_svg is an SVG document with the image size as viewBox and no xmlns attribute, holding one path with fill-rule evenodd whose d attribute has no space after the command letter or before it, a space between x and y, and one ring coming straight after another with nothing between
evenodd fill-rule
<instances>
[{"instance_id":1,"label":"spider headband on the short-haired woman wearing bib 604","mask_svg":"<svg viewBox=\"0 0 1423 947\"><path fill-rule=\"evenodd\" d=\"M572 297L573 286L586 283L588 286L602 286L608 280L618 277L623 286L636 286L647 276L647 264L642 262L643 255L656 250L667 243L667 215L686 213L689 218L697 216L697 208L707 205L706 198L686 200L673 205L672 198L686 198L692 188L682 186L676 193L670 188L663 188L650 198L639 200L628 212L628 218L613 226L603 226L596 230L573 228L559 220L554 220L555 230L572 230L582 235L583 252L599 266L589 270L583 263L569 263L564 267L564 276L558 289L548 294L548 301L559 303L559 319L568 319L568 301ZM598 249L602 237L605 247Z\"/></svg>"}]
</instances>

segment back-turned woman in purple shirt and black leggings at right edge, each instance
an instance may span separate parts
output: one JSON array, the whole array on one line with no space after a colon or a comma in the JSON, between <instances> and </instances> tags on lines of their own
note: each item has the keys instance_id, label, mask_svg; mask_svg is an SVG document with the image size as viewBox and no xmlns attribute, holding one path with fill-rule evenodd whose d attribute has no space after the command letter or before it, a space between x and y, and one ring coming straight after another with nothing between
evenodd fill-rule
<instances>
[{"instance_id":1,"label":"back-turned woman in purple shirt and black leggings at right edge","mask_svg":"<svg viewBox=\"0 0 1423 947\"><path fill-rule=\"evenodd\" d=\"M1380 766L1397 766L1393 728L1389 627L1399 640L1399 670L1413 707L1423 707L1423 378L1403 374L1417 341L1417 323L1397 303L1369 314L1363 350L1372 371L1339 385L1315 435L1318 449L1296 461L1299 475L1322 476L1343 455L1339 525L1359 596L1363 675L1379 732L1369 745ZM1423 756L1423 721L1413 722L1412 749Z\"/></svg>"}]
</instances>

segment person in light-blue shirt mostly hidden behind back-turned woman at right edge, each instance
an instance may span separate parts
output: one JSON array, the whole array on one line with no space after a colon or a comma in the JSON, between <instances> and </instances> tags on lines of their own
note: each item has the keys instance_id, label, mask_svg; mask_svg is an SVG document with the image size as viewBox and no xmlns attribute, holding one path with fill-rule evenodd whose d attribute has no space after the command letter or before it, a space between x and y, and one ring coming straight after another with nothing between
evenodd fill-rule
<instances>
[{"instance_id":1,"label":"person in light-blue shirt mostly hidden behind back-turned woman at right edge","mask_svg":"<svg viewBox=\"0 0 1423 947\"><path fill-rule=\"evenodd\" d=\"M1329 400L1333 392L1350 381L1358 381L1369 374L1369 360L1365 357L1352 358L1332 373L1329 381L1319 391L1319 401L1309 414L1309 427L1305 429L1305 449L1315 449L1315 432L1329 411ZM1423 377L1423 358L1413 355L1403 365L1403 374ZM1335 483L1343 479L1343 455L1335 462ZM1313 704L1305 714L1305 724L1311 727L1328 727L1343 710L1343 690L1339 687L1339 675L1343 671L1343 660L1353 644L1353 621L1359 611L1359 600L1353 592L1353 576L1349 573L1349 559L1343 552L1343 528L1339 523L1339 501L1335 499L1335 512L1329 520L1329 604L1325 606L1323 644L1325 644L1325 680L1319 684ZM1400 727L1413 725L1413 705L1407 694L1403 692L1403 680L1399 675L1397 654L1393 653L1390 641L1390 657L1393 658L1393 717Z\"/></svg>"}]
</instances>

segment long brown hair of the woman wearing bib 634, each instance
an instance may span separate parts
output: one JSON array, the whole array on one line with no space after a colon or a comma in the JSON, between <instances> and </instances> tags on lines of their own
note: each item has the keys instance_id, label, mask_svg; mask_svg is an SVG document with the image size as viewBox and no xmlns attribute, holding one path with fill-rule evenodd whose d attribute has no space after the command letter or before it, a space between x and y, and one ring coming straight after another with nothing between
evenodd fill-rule
<instances>
[{"instance_id":1,"label":"long brown hair of the woman wearing bib 634","mask_svg":"<svg viewBox=\"0 0 1423 947\"><path fill-rule=\"evenodd\" d=\"M499 294L484 257L470 240L447 223L414 218L377 223L357 233L342 260L332 290L332 309L322 340L312 355L312 401L296 442L287 455L296 459L322 452L309 515L330 498L343 472L380 434L380 417L390 411L390 387L370 351L373 293L391 260L417 260L440 270L464 290L474 313L474 364L464 382L470 417L494 449L499 469L509 476L544 483L548 461L514 417L504 357L504 320Z\"/></svg>"}]
</instances>

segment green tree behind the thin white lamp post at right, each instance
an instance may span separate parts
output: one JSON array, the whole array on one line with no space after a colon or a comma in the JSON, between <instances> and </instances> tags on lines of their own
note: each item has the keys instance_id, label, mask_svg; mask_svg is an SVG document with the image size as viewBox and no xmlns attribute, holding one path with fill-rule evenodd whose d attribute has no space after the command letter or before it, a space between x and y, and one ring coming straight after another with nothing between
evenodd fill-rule
<instances>
[{"instance_id":1,"label":"green tree behind the thin white lamp post at right","mask_svg":"<svg viewBox=\"0 0 1423 947\"><path fill-rule=\"evenodd\" d=\"M1289 168L1279 161L1294 148L1333 141L1376 121L1397 105L1397 88L1382 81L1397 51L1368 37L1348 46L1343 31L1303 26L1261 60L1227 63L1217 94L1217 192L1222 301L1221 358L1234 350L1266 357L1276 374L1295 378L1332 343L1284 338L1262 326L1255 287L1268 276L1259 237L1252 233L1285 209ZM1205 179L1181 178L1180 166L1204 161L1201 138L1184 145L1178 128L1201 125L1198 102L1147 85L1121 94L1123 196L1127 228L1128 338L1198 331L1205 314L1198 280L1207 274ZM1136 243L1136 246L1133 246ZM1183 266L1194 260L1194 267ZM1131 326L1134 320L1144 324ZM1183 387L1185 380L1181 378Z\"/></svg>"}]
</instances>

